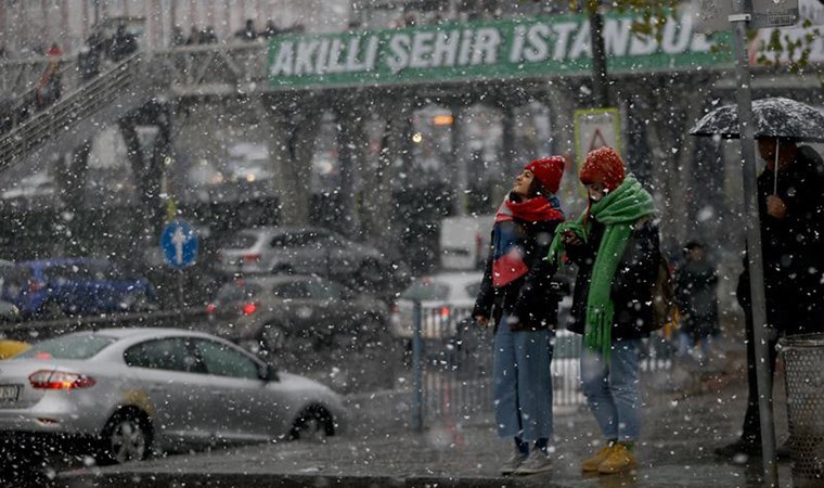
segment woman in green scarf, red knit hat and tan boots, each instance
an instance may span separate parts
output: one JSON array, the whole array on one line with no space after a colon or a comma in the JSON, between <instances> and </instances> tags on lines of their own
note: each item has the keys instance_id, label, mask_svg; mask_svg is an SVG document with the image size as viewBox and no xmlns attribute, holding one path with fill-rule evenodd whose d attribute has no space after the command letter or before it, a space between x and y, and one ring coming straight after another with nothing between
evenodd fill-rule
<instances>
[{"instance_id":1,"label":"woman in green scarf, red knit hat and tan boots","mask_svg":"<svg viewBox=\"0 0 824 488\"><path fill-rule=\"evenodd\" d=\"M590 152L579 176L589 206L558 228L550 257L559 262L565 253L578 266L568 329L583 334L581 383L605 440L582 471L622 473L638 465L638 363L641 339L653 324L658 228L652 196L632 175L625 176L611 147Z\"/></svg>"}]
</instances>

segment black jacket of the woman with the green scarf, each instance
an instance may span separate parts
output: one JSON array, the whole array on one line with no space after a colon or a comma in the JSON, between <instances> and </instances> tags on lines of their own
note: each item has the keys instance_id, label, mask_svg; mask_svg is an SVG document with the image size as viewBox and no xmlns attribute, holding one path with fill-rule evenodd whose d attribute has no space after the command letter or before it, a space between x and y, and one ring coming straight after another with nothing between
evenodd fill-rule
<instances>
[{"instance_id":1,"label":"black jacket of the woman with the green scarf","mask_svg":"<svg viewBox=\"0 0 824 488\"><path fill-rule=\"evenodd\" d=\"M572 294L570 331L583 334L587 321L587 300L592 280L595 255L604 236L604 224L592 218L592 231L587 243L567 246L567 256L578 266ZM653 325L652 286L658 274L658 226L642 219L632 232L613 277L611 299L615 305L613 339L648 337Z\"/></svg>"}]
</instances>

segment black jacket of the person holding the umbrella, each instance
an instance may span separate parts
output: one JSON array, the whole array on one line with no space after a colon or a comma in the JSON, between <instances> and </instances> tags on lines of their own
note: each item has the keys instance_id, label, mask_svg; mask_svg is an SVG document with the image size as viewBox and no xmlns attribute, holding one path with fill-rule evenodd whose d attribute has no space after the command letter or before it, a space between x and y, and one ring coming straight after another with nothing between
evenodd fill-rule
<instances>
[{"instance_id":1,"label":"black jacket of the person holding the umbrella","mask_svg":"<svg viewBox=\"0 0 824 488\"><path fill-rule=\"evenodd\" d=\"M771 303L809 305L824 299L824 165L808 146L799 146L795 164L778 174L777 195L787 207L778 220L767 213L767 198L773 194L774 171L758 177L758 210L761 222L761 253L764 292ZM747 257L738 281L738 301L749 304Z\"/></svg>"}]
</instances>

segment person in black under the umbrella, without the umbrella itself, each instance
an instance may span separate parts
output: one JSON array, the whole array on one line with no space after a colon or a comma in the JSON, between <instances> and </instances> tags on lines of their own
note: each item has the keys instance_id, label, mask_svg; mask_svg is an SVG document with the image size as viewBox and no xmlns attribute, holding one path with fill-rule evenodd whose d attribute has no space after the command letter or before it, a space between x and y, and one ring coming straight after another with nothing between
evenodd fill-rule
<instances>
[{"instance_id":1,"label":"person in black under the umbrella, without the umbrella itself","mask_svg":"<svg viewBox=\"0 0 824 488\"><path fill-rule=\"evenodd\" d=\"M812 147L799 146L790 139L758 138L758 150L767 163L757 184L769 326L768 365L770 374L774 375L778 337L824 332L824 163ZM716 453L741 460L761 455L755 332L746 256L736 297L745 312L747 411L738 439L716 449ZM789 449L781 446L776 453L780 458L788 458Z\"/></svg>"}]
</instances>

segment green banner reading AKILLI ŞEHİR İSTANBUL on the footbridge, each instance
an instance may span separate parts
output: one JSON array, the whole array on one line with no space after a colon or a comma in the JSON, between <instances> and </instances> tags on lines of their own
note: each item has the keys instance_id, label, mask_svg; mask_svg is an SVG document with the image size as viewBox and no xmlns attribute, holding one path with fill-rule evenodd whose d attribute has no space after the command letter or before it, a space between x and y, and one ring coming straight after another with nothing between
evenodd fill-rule
<instances>
[{"instance_id":1,"label":"green banner reading AKILLI \u015eEH\u0130R \u0130STANBUL on the footbridge","mask_svg":"<svg viewBox=\"0 0 824 488\"><path fill-rule=\"evenodd\" d=\"M688 10L667 22L660 40L633 35L632 25L629 15L605 18L610 73L733 65L729 50L713 49L724 35L694 33ZM268 73L270 86L279 89L587 75L591 64L589 21L563 15L276 36Z\"/></svg>"}]
</instances>

